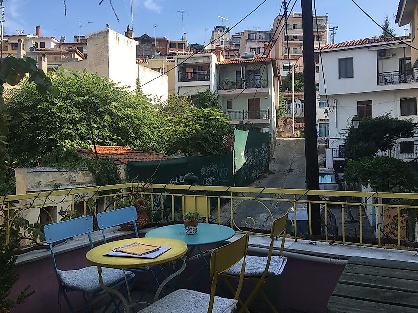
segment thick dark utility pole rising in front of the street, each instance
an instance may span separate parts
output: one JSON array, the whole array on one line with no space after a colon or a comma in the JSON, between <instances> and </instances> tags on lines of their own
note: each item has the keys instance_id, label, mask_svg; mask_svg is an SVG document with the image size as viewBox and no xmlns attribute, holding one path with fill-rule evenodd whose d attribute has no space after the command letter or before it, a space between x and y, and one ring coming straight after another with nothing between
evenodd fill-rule
<instances>
[{"instance_id":1,"label":"thick dark utility pole rising in front of the street","mask_svg":"<svg viewBox=\"0 0 418 313\"><path fill-rule=\"evenodd\" d=\"M303 95L305 100L305 166L306 188L319 189L318 147L315 106L315 57L314 22L312 0L301 0L303 31ZM309 201L317 201L318 196L307 196ZM321 234L321 214L319 203L311 203L312 234Z\"/></svg>"}]
</instances>

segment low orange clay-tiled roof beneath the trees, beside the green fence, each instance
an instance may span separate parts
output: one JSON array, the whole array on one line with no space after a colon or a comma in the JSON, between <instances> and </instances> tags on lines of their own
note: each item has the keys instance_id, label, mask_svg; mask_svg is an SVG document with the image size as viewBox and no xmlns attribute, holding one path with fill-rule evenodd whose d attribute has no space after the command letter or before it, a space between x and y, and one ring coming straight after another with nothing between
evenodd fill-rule
<instances>
[{"instance_id":1,"label":"low orange clay-tiled roof beneath the trees, beside the green fence","mask_svg":"<svg viewBox=\"0 0 418 313\"><path fill-rule=\"evenodd\" d=\"M78 149L78 151L87 156L95 157L95 152L93 146L90 146L91 149ZM128 161L131 162L152 162L152 161L162 161L169 160L172 157L162 155L156 152L143 152L139 150L132 150L128 147L120 146L96 146L97 155L99 157L113 157L123 164L128 164Z\"/></svg>"}]
</instances>

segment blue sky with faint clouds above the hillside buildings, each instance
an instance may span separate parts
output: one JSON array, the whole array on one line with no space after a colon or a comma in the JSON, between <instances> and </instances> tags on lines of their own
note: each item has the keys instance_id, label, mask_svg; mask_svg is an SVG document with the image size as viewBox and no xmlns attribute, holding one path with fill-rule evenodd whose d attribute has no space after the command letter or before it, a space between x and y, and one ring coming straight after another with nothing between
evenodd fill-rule
<instances>
[{"instance_id":1,"label":"blue sky with faint clouds above the hillside buildings","mask_svg":"<svg viewBox=\"0 0 418 313\"><path fill-rule=\"evenodd\" d=\"M5 7L5 30L15 34L16 30L24 30L25 34L33 34L35 25L41 25L43 36L62 35L67 41L72 41L73 35L93 32L105 27L106 23L120 33L131 22L130 0L112 0L120 22L112 11L109 0L66 0L67 16L64 16L64 0L7 0ZM154 24L157 24L157 36L167 36L178 40L182 35L182 19L180 10L184 13L184 28L188 33L190 43L209 41L214 25L221 25L218 15L229 19L224 25L232 26L249 13L261 0L134 0L134 32L135 36L147 33L154 34ZM397 35L404 35L404 29L394 24L393 14L396 14L398 0L357 0L373 18L380 24L387 14L396 29ZM273 19L279 13L280 0L267 0L257 11L239 24L232 32L245 29L270 29ZM293 1L292 1L293 3ZM297 0L295 12L301 12L300 0ZM380 34L380 29L372 23L350 0L317 0L318 15L329 15L329 23L338 25L335 41L362 39ZM80 24L79 24L80 21ZM90 23L89 23L90 22ZM228 24L231 23L231 24ZM334 26L334 25L331 25ZM409 30L407 30L407 34Z\"/></svg>"}]
</instances>

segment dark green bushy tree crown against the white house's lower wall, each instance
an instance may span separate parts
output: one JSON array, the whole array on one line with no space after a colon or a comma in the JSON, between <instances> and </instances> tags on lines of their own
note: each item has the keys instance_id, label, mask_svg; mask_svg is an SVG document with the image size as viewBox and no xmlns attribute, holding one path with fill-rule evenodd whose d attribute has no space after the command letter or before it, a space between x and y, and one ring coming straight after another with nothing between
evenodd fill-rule
<instances>
[{"instance_id":1,"label":"dark green bushy tree crown against the white house's lower wall","mask_svg":"<svg viewBox=\"0 0 418 313\"><path fill-rule=\"evenodd\" d=\"M344 133L344 154L348 159L374 157L379 151L392 149L399 138L413 137L418 130L410 119L400 119L385 114L379 117L365 117L360 126L352 125Z\"/></svg>"}]
</instances>

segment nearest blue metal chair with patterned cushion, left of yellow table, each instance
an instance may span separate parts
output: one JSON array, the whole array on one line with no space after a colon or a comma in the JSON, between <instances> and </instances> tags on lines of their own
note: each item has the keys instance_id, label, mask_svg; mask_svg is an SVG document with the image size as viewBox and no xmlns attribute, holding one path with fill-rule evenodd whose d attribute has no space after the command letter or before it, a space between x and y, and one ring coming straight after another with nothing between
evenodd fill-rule
<instances>
[{"instance_id":1,"label":"nearest blue metal chair with patterned cushion, left of yellow table","mask_svg":"<svg viewBox=\"0 0 418 313\"><path fill-rule=\"evenodd\" d=\"M93 248L91 232L93 231L93 219L91 216L82 216L79 218L62 221L58 223L48 224L44 226L45 240L49 244L51 250L52 263L54 271L59 285L59 297L64 296L65 301L68 304L71 312L74 309L67 296L67 291L80 291L83 292L83 297L86 300L83 311L86 312L93 299L101 294L106 293L99 284L99 274L96 266L89 266L77 270L62 271L57 268L53 243L59 242L65 239L69 239L78 235L86 235L89 238L90 248ZM132 272L124 272L119 269L103 268L102 277L103 283L111 288L124 287L125 275L128 281L134 278ZM89 299L86 299L86 294L92 294ZM106 312L111 303L115 304L117 311L119 311L118 305L112 294L109 294L111 302L105 307L103 312Z\"/></svg>"}]
</instances>

